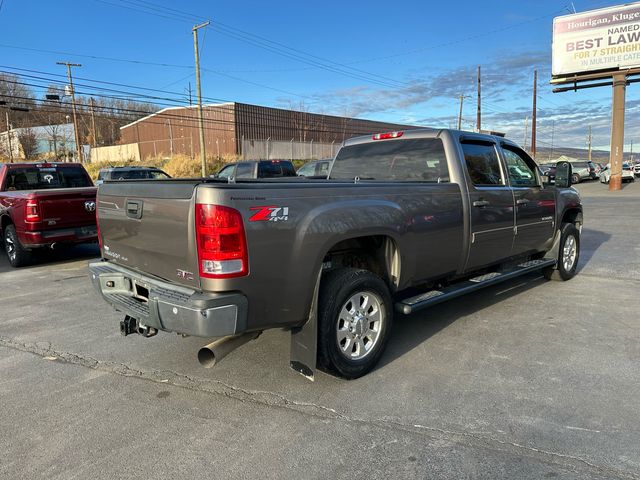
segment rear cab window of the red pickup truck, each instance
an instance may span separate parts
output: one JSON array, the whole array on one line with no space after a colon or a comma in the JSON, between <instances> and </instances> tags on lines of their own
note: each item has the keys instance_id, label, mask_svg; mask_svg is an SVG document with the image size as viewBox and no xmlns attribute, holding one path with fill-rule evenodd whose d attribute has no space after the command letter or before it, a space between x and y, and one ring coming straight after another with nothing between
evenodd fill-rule
<instances>
[{"instance_id":1,"label":"rear cab window of the red pickup truck","mask_svg":"<svg viewBox=\"0 0 640 480\"><path fill-rule=\"evenodd\" d=\"M82 167L34 164L33 166L9 169L4 190L43 190L91 186L93 183Z\"/></svg>"}]
</instances>

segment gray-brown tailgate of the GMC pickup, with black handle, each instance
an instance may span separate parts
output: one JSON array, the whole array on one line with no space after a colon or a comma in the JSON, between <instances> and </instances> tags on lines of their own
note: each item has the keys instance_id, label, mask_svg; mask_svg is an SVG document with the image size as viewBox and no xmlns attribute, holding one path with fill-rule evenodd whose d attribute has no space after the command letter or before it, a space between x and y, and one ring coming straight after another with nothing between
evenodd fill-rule
<instances>
[{"instance_id":1,"label":"gray-brown tailgate of the GMC pickup, with black handle","mask_svg":"<svg viewBox=\"0 0 640 480\"><path fill-rule=\"evenodd\" d=\"M199 287L194 253L197 180L120 181L98 190L103 256L127 268Z\"/></svg>"}]
</instances>

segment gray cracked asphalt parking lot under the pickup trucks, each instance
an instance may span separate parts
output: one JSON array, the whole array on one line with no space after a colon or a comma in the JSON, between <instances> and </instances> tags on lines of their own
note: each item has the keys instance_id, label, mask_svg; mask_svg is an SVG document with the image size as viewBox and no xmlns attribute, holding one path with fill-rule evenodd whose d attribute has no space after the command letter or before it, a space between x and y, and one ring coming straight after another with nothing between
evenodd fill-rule
<instances>
[{"instance_id":1,"label":"gray cracked asphalt parking lot under the pickup trucks","mask_svg":"<svg viewBox=\"0 0 640 480\"><path fill-rule=\"evenodd\" d=\"M368 376L314 383L270 331L218 367L122 338L93 246L0 259L0 478L640 479L640 182L577 187L580 273L400 317Z\"/></svg>"}]
</instances>

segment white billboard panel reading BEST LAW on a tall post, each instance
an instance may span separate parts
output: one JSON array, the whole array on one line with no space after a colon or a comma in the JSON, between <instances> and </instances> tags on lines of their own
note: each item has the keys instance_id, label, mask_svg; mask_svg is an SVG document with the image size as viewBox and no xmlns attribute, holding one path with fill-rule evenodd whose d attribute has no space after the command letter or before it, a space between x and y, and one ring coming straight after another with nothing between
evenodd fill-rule
<instances>
[{"instance_id":1,"label":"white billboard panel reading BEST LAW on a tall post","mask_svg":"<svg viewBox=\"0 0 640 480\"><path fill-rule=\"evenodd\" d=\"M554 77L640 66L640 2L553 19Z\"/></svg>"}]
</instances>

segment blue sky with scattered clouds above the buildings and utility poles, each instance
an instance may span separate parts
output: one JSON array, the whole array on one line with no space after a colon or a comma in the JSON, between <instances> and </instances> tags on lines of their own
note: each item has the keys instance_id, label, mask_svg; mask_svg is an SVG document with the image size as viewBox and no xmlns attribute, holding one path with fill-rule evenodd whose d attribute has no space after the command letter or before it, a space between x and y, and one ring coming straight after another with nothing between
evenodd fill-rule
<instances>
[{"instance_id":1,"label":"blue sky with scattered clouds above the buildings and utility poles","mask_svg":"<svg viewBox=\"0 0 640 480\"><path fill-rule=\"evenodd\" d=\"M573 7L617 3L577 0ZM553 138L556 146L585 147L589 124L594 145L609 144L610 88L553 94L549 86L552 20L573 8L564 0L0 4L2 71L63 74L55 62L69 60L82 64L77 77L178 99L189 81L195 89L191 27L211 20L200 43L203 95L212 100L449 127L463 94L463 127L471 129L481 65L483 127L523 143L537 68L538 145ZM640 144L640 85L627 89L627 107L625 143Z\"/></svg>"}]
</instances>

